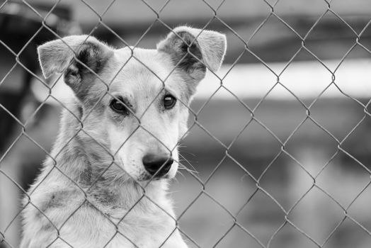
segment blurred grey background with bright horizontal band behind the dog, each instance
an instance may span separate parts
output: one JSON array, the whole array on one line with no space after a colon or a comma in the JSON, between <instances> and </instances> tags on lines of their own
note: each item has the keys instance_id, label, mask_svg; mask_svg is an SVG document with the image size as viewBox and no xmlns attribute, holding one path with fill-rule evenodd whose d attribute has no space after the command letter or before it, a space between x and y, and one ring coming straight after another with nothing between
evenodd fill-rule
<instances>
[{"instance_id":1,"label":"blurred grey background with bright horizontal band behind the dog","mask_svg":"<svg viewBox=\"0 0 371 248\"><path fill-rule=\"evenodd\" d=\"M91 33L154 48L180 24L228 43L181 147L197 172L171 185L190 247L371 247L370 21L368 0L0 1L0 247L18 247L21 188L62 108L36 47Z\"/></svg>"}]
</instances>

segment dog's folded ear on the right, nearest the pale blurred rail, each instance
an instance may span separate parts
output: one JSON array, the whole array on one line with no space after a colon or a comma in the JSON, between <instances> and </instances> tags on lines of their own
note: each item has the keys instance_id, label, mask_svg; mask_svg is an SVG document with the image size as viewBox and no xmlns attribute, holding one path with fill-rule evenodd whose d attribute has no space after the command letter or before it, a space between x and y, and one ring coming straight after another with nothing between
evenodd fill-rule
<instances>
[{"instance_id":1,"label":"dog's folded ear on the right, nearest the pale blurred rail","mask_svg":"<svg viewBox=\"0 0 371 248\"><path fill-rule=\"evenodd\" d=\"M224 34L187 26L174 28L165 40L157 44L157 50L171 55L173 63L186 72L187 81L193 88L205 77L207 68L217 72L226 48Z\"/></svg>"}]
</instances>

